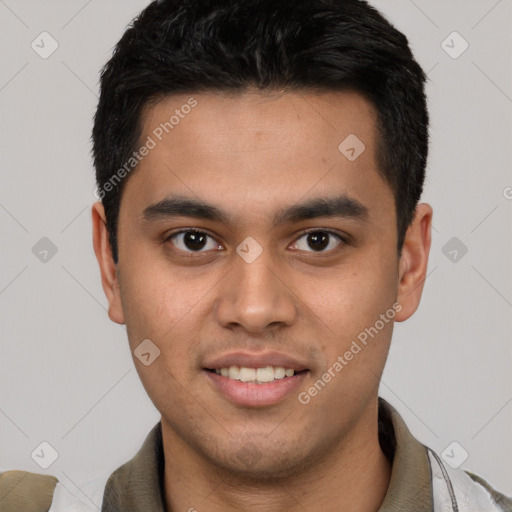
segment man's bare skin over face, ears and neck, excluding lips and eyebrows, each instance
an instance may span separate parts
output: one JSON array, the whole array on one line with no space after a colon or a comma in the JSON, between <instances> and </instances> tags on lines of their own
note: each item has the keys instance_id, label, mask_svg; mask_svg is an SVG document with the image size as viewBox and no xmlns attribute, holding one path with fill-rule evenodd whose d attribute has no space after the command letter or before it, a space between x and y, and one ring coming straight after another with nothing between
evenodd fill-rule
<instances>
[{"instance_id":1,"label":"man's bare skin over face, ears and neck, excluding lips and eyebrows","mask_svg":"<svg viewBox=\"0 0 512 512\"><path fill-rule=\"evenodd\" d=\"M378 442L377 393L393 322L307 405L297 395L393 304L401 305L395 321L415 312L432 209L418 205L399 258L393 192L377 171L375 111L356 93L176 95L144 112L141 141L190 96L197 106L125 184L117 268L103 206L92 209L109 317L126 324L132 351L147 338L161 351L150 366L134 362L162 415L167 508L376 511L391 469ZM338 150L349 134L366 146L354 161ZM229 222L144 221L145 208L176 194L216 206ZM273 225L282 209L341 194L367 218ZM202 252L169 238L187 228L212 237ZM347 241L333 237L318 252L304 230ZM263 249L252 263L236 252L249 236ZM309 372L279 403L242 407L202 371L235 349L283 352Z\"/></svg>"}]
</instances>

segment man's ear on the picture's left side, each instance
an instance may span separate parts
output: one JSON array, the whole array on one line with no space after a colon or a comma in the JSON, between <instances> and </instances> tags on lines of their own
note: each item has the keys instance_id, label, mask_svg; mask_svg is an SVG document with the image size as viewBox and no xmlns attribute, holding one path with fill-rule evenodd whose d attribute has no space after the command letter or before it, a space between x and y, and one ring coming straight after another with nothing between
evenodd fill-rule
<instances>
[{"instance_id":1,"label":"man's ear on the picture's left side","mask_svg":"<svg viewBox=\"0 0 512 512\"><path fill-rule=\"evenodd\" d=\"M108 316L113 322L124 324L117 266L112 257L112 248L110 247L103 204L100 202L94 203L91 213L94 252L100 266L103 291L108 299Z\"/></svg>"}]
</instances>

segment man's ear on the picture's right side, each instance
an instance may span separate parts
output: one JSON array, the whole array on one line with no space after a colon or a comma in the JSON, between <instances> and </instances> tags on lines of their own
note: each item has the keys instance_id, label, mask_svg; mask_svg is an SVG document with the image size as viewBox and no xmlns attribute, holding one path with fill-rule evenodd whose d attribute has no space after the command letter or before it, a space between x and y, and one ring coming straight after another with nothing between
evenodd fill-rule
<instances>
[{"instance_id":1,"label":"man's ear on the picture's right side","mask_svg":"<svg viewBox=\"0 0 512 512\"><path fill-rule=\"evenodd\" d=\"M432 239L432 207L420 204L407 229L399 262L398 302L402 309L395 320L403 322L418 309L427 276L428 255Z\"/></svg>"}]
</instances>

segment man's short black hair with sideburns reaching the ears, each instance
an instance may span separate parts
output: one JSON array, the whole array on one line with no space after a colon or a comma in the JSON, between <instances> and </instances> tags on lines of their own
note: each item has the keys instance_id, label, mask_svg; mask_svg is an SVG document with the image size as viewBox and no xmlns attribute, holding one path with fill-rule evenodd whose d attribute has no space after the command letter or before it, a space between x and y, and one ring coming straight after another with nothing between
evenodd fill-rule
<instances>
[{"instance_id":1,"label":"man's short black hair with sideburns reaching the ears","mask_svg":"<svg viewBox=\"0 0 512 512\"><path fill-rule=\"evenodd\" d=\"M371 102L378 171L395 197L400 253L425 179L425 80L405 35L363 0L152 2L102 70L92 132L115 263L129 177L119 170L140 144L143 109L172 94L249 88L352 90Z\"/></svg>"}]
</instances>

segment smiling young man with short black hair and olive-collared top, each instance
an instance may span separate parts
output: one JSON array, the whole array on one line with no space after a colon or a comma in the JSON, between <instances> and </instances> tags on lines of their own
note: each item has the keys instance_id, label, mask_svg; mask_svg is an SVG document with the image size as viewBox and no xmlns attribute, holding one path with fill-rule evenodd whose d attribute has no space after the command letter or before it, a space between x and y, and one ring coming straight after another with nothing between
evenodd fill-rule
<instances>
[{"instance_id":1,"label":"smiling young man with short black hair and olive-collared top","mask_svg":"<svg viewBox=\"0 0 512 512\"><path fill-rule=\"evenodd\" d=\"M162 418L95 483L101 510L512 510L378 398L428 263L424 81L359 0L163 0L127 30L93 130L94 248ZM95 509L0 478L7 510Z\"/></svg>"}]
</instances>

